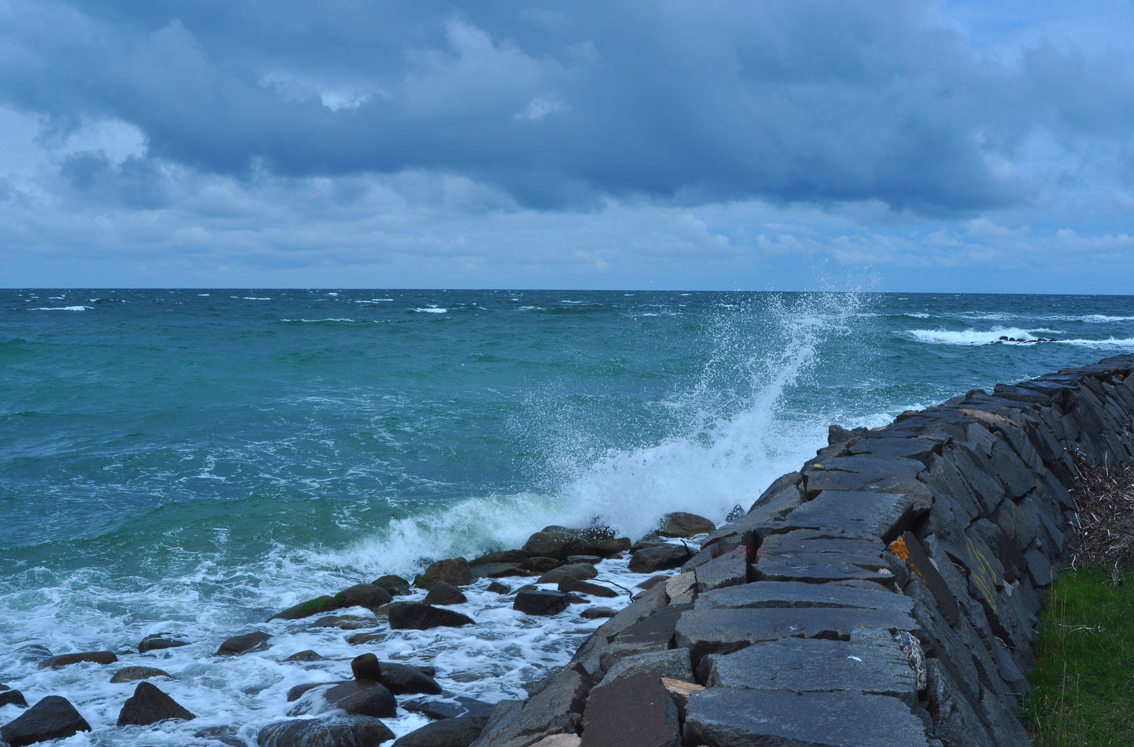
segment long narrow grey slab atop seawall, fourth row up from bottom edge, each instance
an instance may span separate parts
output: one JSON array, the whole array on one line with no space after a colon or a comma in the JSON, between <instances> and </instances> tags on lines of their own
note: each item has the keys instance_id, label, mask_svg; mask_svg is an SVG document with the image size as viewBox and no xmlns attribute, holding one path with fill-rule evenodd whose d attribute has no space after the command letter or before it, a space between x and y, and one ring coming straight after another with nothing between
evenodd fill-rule
<instances>
[{"instance_id":1,"label":"long narrow grey slab atop seawall, fourth row up from bottom edge","mask_svg":"<svg viewBox=\"0 0 1134 747\"><path fill-rule=\"evenodd\" d=\"M885 588L861 588L841 584L803 582L756 582L705 592L695 602L696 610L758 608L853 608L889 610L909 614L914 601Z\"/></svg>"}]
</instances>

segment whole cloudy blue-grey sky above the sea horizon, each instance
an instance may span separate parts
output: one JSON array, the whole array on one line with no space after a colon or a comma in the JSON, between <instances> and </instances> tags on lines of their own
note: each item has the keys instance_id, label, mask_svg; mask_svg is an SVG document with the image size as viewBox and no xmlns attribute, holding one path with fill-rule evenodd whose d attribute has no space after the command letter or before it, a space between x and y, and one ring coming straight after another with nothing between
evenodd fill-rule
<instances>
[{"instance_id":1,"label":"whole cloudy blue-grey sky above the sea horizon","mask_svg":"<svg viewBox=\"0 0 1134 747\"><path fill-rule=\"evenodd\" d=\"M0 0L0 286L1134 292L1134 2Z\"/></svg>"}]
</instances>

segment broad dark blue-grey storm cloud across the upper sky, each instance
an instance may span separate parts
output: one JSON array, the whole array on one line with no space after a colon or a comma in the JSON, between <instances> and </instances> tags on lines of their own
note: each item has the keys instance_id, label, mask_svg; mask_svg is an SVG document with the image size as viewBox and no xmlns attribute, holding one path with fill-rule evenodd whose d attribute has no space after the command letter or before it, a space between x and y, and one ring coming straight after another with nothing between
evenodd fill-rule
<instances>
[{"instance_id":1,"label":"broad dark blue-grey storm cloud across the upper sky","mask_svg":"<svg viewBox=\"0 0 1134 747\"><path fill-rule=\"evenodd\" d=\"M239 178L455 173L522 205L1026 200L1039 129L1128 148L1127 56L998 60L917 2L14 2L0 96ZM49 133L50 135L50 133ZM1124 151L1125 152L1125 151ZM1006 165L1008 164L1008 165ZM64 176L161 204L156 167ZM133 202L132 202L133 201Z\"/></svg>"}]
</instances>

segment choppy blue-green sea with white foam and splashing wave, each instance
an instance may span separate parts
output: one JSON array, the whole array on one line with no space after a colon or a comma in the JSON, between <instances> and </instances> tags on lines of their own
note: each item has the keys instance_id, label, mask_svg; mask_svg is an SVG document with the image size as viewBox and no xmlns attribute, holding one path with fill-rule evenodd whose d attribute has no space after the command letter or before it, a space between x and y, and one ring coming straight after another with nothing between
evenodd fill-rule
<instances>
[{"instance_id":1,"label":"choppy blue-green sea with white foam and splashing wave","mask_svg":"<svg viewBox=\"0 0 1134 747\"><path fill-rule=\"evenodd\" d=\"M374 621L356 645L265 620L547 525L720 523L831 423L1131 351L1129 296L0 290L0 682L70 699L92 731L66 745L205 744L210 727L254 744L290 687L348 678L364 652L432 665L448 693L523 697L602 620L524 616L486 580L454 608L464 628ZM252 630L272 645L213 655ZM189 645L126 653L156 633ZM40 669L28 646L120 662ZM307 648L325 659L284 661ZM116 727L128 664L169 672L154 682L197 718Z\"/></svg>"}]
</instances>

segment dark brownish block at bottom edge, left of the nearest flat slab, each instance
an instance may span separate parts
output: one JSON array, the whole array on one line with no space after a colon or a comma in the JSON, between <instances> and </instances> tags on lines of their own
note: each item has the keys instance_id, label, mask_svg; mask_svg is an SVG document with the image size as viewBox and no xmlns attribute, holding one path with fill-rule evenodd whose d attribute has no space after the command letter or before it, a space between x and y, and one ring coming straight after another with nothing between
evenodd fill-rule
<instances>
[{"instance_id":1,"label":"dark brownish block at bottom edge, left of the nearest flat slab","mask_svg":"<svg viewBox=\"0 0 1134 747\"><path fill-rule=\"evenodd\" d=\"M694 742L697 744L697 742ZM581 747L678 747L677 706L654 673L596 687L583 713Z\"/></svg>"}]
</instances>

